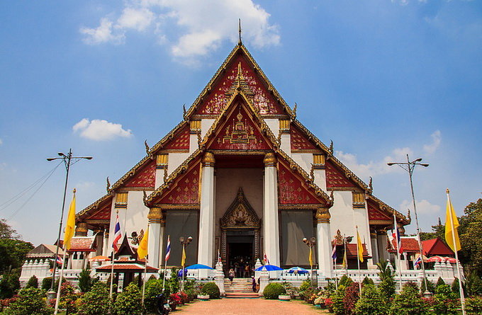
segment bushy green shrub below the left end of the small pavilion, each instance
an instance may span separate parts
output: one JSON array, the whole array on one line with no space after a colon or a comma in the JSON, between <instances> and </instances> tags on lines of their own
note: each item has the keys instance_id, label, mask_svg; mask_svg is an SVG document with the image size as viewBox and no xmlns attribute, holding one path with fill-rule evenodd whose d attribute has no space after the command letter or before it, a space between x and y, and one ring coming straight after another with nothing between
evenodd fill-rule
<instances>
[{"instance_id":1,"label":"bushy green shrub below the left end of the small pavilion","mask_svg":"<svg viewBox=\"0 0 482 315\"><path fill-rule=\"evenodd\" d=\"M108 287L104 282L96 282L92 289L77 300L79 315L109 314L111 300Z\"/></svg>"}]
</instances>

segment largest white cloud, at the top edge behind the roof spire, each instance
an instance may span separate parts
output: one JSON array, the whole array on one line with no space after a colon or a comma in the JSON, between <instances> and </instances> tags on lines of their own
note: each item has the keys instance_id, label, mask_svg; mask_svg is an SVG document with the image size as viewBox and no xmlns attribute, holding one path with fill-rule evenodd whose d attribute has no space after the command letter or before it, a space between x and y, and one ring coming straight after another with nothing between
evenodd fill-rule
<instances>
[{"instance_id":1,"label":"largest white cloud, at the top edge behind the roof spire","mask_svg":"<svg viewBox=\"0 0 482 315\"><path fill-rule=\"evenodd\" d=\"M80 31L89 44L123 42L125 30L151 30L158 43L166 43L174 57L196 59L216 50L223 40L237 42L237 19L243 40L261 48L279 44L278 26L270 14L252 0L131 0L115 22L101 19L98 28Z\"/></svg>"}]
</instances>

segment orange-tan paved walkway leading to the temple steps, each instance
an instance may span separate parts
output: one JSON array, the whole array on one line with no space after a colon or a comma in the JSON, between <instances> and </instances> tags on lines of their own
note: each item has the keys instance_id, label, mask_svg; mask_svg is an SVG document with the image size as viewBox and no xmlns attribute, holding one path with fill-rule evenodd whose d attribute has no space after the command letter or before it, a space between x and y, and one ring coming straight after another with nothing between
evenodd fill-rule
<instances>
[{"instance_id":1,"label":"orange-tan paved walkway leading to the temple steps","mask_svg":"<svg viewBox=\"0 0 482 315\"><path fill-rule=\"evenodd\" d=\"M279 301L274 299L211 299L186 304L173 315L215 314L215 315L312 315L327 314L301 301Z\"/></svg>"}]
</instances>

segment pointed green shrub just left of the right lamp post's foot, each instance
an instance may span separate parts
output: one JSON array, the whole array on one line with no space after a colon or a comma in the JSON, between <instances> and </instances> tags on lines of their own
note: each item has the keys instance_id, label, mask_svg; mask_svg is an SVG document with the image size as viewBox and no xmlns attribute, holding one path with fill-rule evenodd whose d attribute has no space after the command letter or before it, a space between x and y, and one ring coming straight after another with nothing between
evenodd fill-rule
<instances>
[{"instance_id":1,"label":"pointed green shrub just left of the right lamp post's foot","mask_svg":"<svg viewBox=\"0 0 482 315\"><path fill-rule=\"evenodd\" d=\"M417 285L413 282L403 286L402 292L396 295L391 304L390 314L393 315L425 315L430 314L428 304L420 297Z\"/></svg>"}]
</instances>

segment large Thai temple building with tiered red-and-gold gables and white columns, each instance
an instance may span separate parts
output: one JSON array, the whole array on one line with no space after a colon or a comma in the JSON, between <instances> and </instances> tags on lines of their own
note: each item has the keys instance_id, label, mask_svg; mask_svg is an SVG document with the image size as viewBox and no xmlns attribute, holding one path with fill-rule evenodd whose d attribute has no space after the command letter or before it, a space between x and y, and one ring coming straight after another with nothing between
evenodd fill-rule
<instances>
[{"instance_id":1,"label":"large Thai temple building with tiered red-and-gold gables and white columns","mask_svg":"<svg viewBox=\"0 0 482 315\"><path fill-rule=\"evenodd\" d=\"M302 240L314 237L315 268L331 277L332 246L355 236L353 251L355 227L364 268L388 259L393 215L400 229L410 224L297 120L296 105L286 104L240 41L184 119L77 214L76 235L91 231L96 255L110 256L117 216L133 247L149 224L154 268L164 266L167 236L168 266L181 264L179 238L192 236L188 265L214 267L220 256L225 268L264 256L282 268L308 267ZM349 258L356 264L355 254Z\"/></svg>"}]
</instances>

